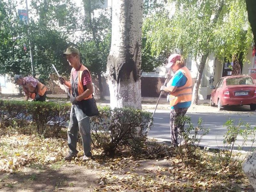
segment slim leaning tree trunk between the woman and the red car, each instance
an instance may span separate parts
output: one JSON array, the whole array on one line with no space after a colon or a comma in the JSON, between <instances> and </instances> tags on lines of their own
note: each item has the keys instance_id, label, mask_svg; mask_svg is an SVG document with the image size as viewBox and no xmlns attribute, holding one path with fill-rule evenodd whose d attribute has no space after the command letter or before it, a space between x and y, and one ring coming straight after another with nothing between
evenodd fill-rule
<instances>
[{"instance_id":1,"label":"slim leaning tree trunk between the woman and the red car","mask_svg":"<svg viewBox=\"0 0 256 192\"><path fill-rule=\"evenodd\" d=\"M209 56L209 53L206 53L204 55L202 55L200 64L199 64L199 68L198 68L198 72L196 75L196 81L194 84L194 88L193 88L193 94L192 94L192 104L193 105L197 105L197 101L198 101L198 90L199 90L199 86L201 84L201 79L202 79L202 75L204 72L204 66L207 60L207 57Z\"/></svg>"}]
</instances>

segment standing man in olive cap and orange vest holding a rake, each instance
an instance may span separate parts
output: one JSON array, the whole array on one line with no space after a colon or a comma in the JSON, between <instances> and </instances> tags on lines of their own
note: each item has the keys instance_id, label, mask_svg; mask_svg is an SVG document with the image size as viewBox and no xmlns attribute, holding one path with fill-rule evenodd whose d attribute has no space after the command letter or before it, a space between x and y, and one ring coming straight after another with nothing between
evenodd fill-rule
<instances>
[{"instance_id":1,"label":"standing man in olive cap and orange vest holding a rake","mask_svg":"<svg viewBox=\"0 0 256 192\"><path fill-rule=\"evenodd\" d=\"M79 131L84 148L84 156L82 160L87 161L92 156L90 117L86 116L85 114L76 114L75 108L81 108L83 105L83 100L92 98L92 93L94 92L92 78L89 70L80 63L80 52L78 49L75 47L68 47L67 51L63 54L68 60L69 65L73 68L71 69L70 83L63 77L59 78L59 82L60 84L65 84L71 90L70 102L75 104L72 105L71 108L68 126L69 153L64 157L64 159L70 161L73 157L77 156L78 151L76 150L76 143L77 134Z\"/></svg>"}]
</instances>

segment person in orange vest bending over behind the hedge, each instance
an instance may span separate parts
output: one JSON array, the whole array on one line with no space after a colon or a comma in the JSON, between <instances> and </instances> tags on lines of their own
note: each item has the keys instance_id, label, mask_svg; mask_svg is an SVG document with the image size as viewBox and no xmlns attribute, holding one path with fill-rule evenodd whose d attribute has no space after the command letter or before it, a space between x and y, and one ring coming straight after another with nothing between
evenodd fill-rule
<instances>
[{"instance_id":1,"label":"person in orange vest bending over behind the hedge","mask_svg":"<svg viewBox=\"0 0 256 192\"><path fill-rule=\"evenodd\" d=\"M22 86L26 101L29 97L34 101L45 101L47 88L34 77L23 78L21 75L15 75L14 81Z\"/></svg>"}]
</instances>

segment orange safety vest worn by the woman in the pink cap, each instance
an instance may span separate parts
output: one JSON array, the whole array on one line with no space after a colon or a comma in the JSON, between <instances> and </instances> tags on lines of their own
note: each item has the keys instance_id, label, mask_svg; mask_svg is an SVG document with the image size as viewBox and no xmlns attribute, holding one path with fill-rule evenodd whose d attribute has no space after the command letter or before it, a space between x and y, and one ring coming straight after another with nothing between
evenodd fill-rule
<instances>
[{"instance_id":1,"label":"orange safety vest worn by the woman in the pink cap","mask_svg":"<svg viewBox=\"0 0 256 192\"><path fill-rule=\"evenodd\" d=\"M178 72L182 72L187 77L187 82L182 87L177 87L175 92L170 93L170 106L174 106L177 103L187 102L192 100L192 78L191 74L186 66L180 68L178 71L176 71L175 74ZM174 74L174 76L175 76ZM173 81L173 78L170 80ZM168 83L169 84L169 83Z\"/></svg>"}]
</instances>

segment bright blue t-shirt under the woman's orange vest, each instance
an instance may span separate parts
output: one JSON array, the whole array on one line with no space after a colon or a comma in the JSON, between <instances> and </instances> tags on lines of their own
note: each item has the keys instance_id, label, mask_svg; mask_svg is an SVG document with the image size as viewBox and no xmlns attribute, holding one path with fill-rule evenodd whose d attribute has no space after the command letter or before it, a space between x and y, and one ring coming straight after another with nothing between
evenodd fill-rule
<instances>
[{"instance_id":1,"label":"bright blue t-shirt under the woman's orange vest","mask_svg":"<svg viewBox=\"0 0 256 192\"><path fill-rule=\"evenodd\" d=\"M182 87L187 83L187 80L188 80L187 77L181 71L179 71L173 77L172 86ZM176 105L172 106L171 108L172 109L186 108L186 107L190 107L190 105L191 105L191 101L186 101L186 102L177 103Z\"/></svg>"}]
</instances>

